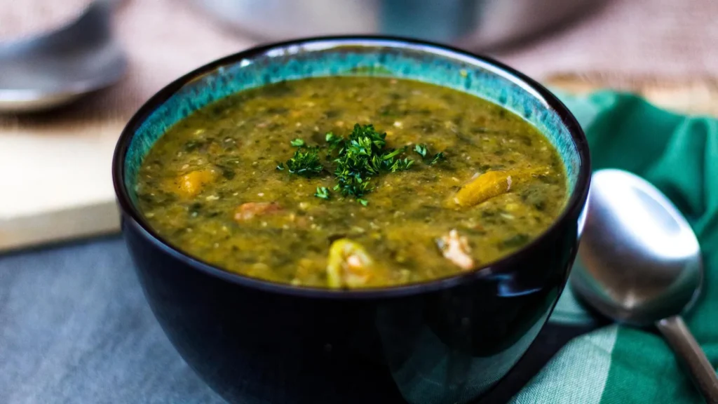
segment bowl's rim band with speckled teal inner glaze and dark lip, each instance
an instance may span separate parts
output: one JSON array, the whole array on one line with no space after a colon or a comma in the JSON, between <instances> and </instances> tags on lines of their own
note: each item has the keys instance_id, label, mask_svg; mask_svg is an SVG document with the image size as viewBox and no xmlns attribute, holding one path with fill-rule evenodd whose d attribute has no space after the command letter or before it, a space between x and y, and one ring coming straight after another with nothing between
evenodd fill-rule
<instances>
[{"instance_id":1,"label":"bowl's rim band with speckled teal inner glaze and dark lip","mask_svg":"<svg viewBox=\"0 0 718 404\"><path fill-rule=\"evenodd\" d=\"M309 77L360 75L405 78L454 88L503 106L533 124L558 150L567 170L569 198L549 229L522 249L488 265L424 283L366 290L297 288L221 270L174 249L151 229L136 208L137 170L154 142L197 109L249 88ZM284 293L370 296L404 295L426 288L447 288L466 277L484 276L510 265L513 257L556 231L559 223L584 208L590 182L586 137L574 116L544 86L506 65L444 45L398 37L316 37L254 47L194 70L160 90L130 119L113 157L113 183L118 204L131 221L170 254L190 260L206 272ZM580 226L579 226L580 227ZM412 292L414 290L414 292Z\"/></svg>"}]
</instances>

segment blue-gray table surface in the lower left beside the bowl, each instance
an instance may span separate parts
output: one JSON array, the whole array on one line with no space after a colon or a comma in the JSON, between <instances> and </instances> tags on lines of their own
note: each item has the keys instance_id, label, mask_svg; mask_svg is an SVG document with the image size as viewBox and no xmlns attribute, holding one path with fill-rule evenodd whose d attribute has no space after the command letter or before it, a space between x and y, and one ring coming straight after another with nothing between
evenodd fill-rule
<instances>
[{"instance_id":1,"label":"blue-gray table surface in the lower left beside the bowl","mask_svg":"<svg viewBox=\"0 0 718 404\"><path fill-rule=\"evenodd\" d=\"M0 256L0 403L224 403L162 333L118 238Z\"/></svg>"}]
</instances>

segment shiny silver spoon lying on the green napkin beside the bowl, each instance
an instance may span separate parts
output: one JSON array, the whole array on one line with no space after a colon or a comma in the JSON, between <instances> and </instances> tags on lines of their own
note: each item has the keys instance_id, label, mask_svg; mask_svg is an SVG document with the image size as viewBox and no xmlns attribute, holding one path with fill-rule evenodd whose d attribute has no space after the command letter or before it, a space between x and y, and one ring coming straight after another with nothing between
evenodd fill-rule
<instances>
[{"instance_id":1,"label":"shiny silver spoon lying on the green napkin beside the bowl","mask_svg":"<svg viewBox=\"0 0 718 404\"><path fill-rule=\"evenodd\" d=\"M633 326L655 324L708 403L718 377L681 313L698 297L701 252L686 219L660 190L621 170L592 177L572 286L597 311Z\"/></svg>"}]
</instances>

